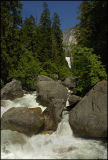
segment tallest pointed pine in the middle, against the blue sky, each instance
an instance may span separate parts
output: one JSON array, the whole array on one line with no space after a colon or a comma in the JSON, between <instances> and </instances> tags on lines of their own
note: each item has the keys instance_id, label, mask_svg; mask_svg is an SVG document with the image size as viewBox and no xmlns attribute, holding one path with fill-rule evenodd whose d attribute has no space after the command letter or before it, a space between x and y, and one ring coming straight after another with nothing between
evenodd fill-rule
<instances>
[{"instance_id":1,"label":"tallest pointed pine in the middle, against the blue sky","mask_svg":"<svg viewBox=\"0 0 108 160\"><path fill-rule=\"evenodd\" d=\"M51 20L50 11L48 9L47 3L43 4L43 12L40 17L40 27L39 27L39 49L38 49L38 59L41 62L47 61L51 58Z\"/></svg>"}]
</instances>

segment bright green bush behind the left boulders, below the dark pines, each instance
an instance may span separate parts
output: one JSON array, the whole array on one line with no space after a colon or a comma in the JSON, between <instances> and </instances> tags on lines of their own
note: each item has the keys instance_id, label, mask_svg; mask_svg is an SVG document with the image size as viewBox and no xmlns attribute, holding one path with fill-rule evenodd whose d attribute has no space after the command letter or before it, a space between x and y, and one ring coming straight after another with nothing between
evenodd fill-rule
<instances>
[{"instance_id":1,"label":"bright green bush behind the left boulders, below the dark pines","mask_svg":"<svg viewBox=\"0 0 108 160\"><path fill-rule=\"evenodd\" d=\"M17 68L10 71L9 76L21 80L23 86L35 89L38 74L42 71L40 62L35 61L28 50L20 56Z\"/></svg>"}]
</instances>

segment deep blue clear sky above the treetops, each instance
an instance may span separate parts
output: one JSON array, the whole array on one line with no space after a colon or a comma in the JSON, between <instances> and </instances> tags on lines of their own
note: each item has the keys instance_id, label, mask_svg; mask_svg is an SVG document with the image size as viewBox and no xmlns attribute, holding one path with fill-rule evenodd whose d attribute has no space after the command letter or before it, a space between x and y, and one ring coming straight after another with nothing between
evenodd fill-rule
<instances>
[{"instance_id":1,"label":"deep blue clear sky above the treetops","mask_svg":"<svg viewBox=\"0 0 108 160\"><path fill-rule=\"evenodd\" d=\"M78 6L81 1L45 1L48 4L51 17L54 12L57 12L60 17L61 30L74 27L79 20L76 19L78 16ZM22 17L25 19L30 15L38 17L40 19L43 11L43 1L21 1L23 4Z\"/></svg>"}]
</instances>

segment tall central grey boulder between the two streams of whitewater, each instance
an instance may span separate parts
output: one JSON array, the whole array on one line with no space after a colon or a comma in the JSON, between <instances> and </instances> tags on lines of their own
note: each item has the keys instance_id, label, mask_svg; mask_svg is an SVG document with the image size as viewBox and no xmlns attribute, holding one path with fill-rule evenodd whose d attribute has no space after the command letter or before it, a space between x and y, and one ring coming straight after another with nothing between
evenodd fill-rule
<instances>
[{"instance_id":1,"label":"tall central grey boulder between the two streams of whitewater","mask_svg":"<svg viewBox=\"0 0 108 160\"><path fill-rule=\"evenodd\" d=\"M45 129L56 130L66 105L67 89L56 81L40 81L37 83L37 93L38 102L48 107L44 111Z\"/></svg>"}]
</instances>

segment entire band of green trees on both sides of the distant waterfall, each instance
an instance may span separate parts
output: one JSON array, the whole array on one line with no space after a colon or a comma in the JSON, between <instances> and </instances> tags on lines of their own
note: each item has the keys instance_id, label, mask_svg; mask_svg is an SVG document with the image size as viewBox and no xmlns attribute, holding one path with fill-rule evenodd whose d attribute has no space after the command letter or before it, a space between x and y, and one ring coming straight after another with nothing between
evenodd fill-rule
<instances>
[{"instance_id":1,"label":"entire band of green trees on both sides of the distant waterfall","mask_svg":"<svg viewBox=\"0 0 108 160\"><path fill-rule=\"evenodd\" d=\"M78 77L75 92L84 95L93 85L107 79L107 1L82 1L77 44L71 46L73 70L65 60L60 18L53 17L46 2L39 23L32 15L22 20L22 4L1 1L1 87L16 78L23 87L35 90L39 74L56 80Z\"/></svg>"}]
</instances>

